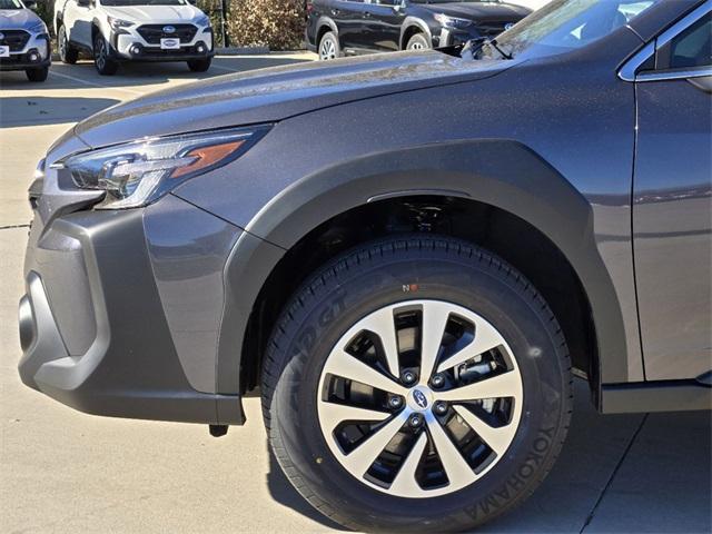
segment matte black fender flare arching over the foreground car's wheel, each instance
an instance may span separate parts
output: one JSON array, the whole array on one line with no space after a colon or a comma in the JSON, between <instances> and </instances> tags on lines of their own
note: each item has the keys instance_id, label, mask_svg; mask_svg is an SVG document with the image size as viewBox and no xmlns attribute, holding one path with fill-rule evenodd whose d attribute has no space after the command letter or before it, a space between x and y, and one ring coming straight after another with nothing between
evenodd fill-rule
<instances>
[{"instance_id":1,"label":"matte black fender flare arching over the foreground car's wheel","mask_svg":"<svg viewBox=\"0 0 712 534\"><path fill-rule=\"evenodd\" d=\"M237 392L249 315L286 250L324 221L368 201L438 194L513 214L562 251L591 305L599 385L625 382L629 354L621 305L597 253L589 200L528 147L508 139L484 139L370 154L322 169L279 191L249 222L226 264L218 393Z\"/></svg>"}]
</instances>

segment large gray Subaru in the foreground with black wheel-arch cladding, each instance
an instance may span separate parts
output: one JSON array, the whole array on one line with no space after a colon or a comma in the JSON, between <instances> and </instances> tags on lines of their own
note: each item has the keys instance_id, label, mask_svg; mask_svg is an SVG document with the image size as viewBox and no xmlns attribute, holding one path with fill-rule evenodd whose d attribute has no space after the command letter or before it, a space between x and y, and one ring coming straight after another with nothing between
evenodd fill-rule
<instances>
[{"instance_id":1,"label":"large gray Subaru in the foreground with black wheel-arch cladding","mask_svg":"<svg viewBox=\"0 0 712 534\"><path fill-rule=\"evenodd\" d=\"M712 0L554 1L496 40L215 78L50 149L30 387L240 425L365 531L479 525L602 413L712 402Z\"/></svg>"}]
</instances>

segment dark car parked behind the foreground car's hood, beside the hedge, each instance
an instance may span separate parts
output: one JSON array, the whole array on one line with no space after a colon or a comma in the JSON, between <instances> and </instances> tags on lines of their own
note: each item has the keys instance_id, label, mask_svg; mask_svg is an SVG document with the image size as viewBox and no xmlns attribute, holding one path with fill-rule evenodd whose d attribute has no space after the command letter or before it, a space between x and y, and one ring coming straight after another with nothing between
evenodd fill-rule
<instances>
[{"instance_id":1,"label":"dark car parked behind the foreground car's hood, beside the hedge","mask_svg":"<svg viewBox=\"0 0 712 534\"><path fill-rule=\"evenodd\" d=\"M306 41L319 59L458 46L493 38L530 13L482 0L309 0Z\"/></svg>"}]
</instances>

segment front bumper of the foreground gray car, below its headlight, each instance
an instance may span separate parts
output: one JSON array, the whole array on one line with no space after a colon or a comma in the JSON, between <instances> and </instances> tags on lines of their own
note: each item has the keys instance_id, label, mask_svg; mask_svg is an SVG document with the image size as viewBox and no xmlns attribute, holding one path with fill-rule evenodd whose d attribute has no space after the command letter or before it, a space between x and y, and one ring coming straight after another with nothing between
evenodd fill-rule
<instances>
[{"instance_id":1,"label":"front bumper of the foreground gray car, below its headlight","mask_svg":"<svg viewBox=\"0 0 712 534\"><path fill-rule=\"evenodd\" d=\"M169 196L160 202L179 201ZM20 377L26 385L89 414L243 424L239 396L201 393L190 383L190 358L179 354L187 345L177 332L180 317L198 314L180 301L171 310L166 286L161 290L156 278L162 269L168 273L164 278L182 287L186 295L181 258L191 263L188 270L199 270L206 278L204 267L196 264L201 260L196 250L182 257L182 248L161 250L161 239L172 238L165 230L170 221L160 217L185 218L186 209L198 210L174 206L168 215L156 216L149 209L77 211L55 217L47 227L36 216L26 257L27 294L19 308ZM234 239L230 235L222 240ZM168 259L161 264L156 257L164 253ZM182 334L196 348L196 339L207 329L198 325L198 333Z\"/></svg>"}]
</instances>

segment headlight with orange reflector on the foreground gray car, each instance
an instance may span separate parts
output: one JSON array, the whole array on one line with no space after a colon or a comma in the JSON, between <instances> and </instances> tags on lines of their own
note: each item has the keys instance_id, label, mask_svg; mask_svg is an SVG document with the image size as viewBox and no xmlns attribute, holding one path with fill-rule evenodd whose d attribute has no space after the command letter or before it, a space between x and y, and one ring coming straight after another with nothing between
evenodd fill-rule
<instances>
[{"instance_id":1,"label":"headlight with orange reflector on the foreground gray car","mask_svg":"<svg viewBox=\"0 0 712 534\"><path fill-rule=\"evenodd\" d=\"M145 206L245 154L268 127L146 139L80 152L52 165L82 189L106 191L103 209Z\"/></svg>"}]
</instances>

